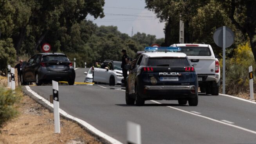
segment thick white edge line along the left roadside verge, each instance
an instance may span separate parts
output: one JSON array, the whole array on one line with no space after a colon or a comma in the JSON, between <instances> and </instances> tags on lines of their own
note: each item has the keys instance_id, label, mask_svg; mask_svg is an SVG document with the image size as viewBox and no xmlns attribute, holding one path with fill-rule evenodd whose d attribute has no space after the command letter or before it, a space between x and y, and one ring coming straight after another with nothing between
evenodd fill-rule
<instances>
[{"instance_id":1,"label":"thick white edge line along the left roadside verge","mask_svg":"<svg viewBox=\"0 0 256 144\"><path fill-rule=\"evenodd\" d=\"M23 89L24 90L24 89ZM51 111L53 109L53 104L51 104L47 99L41 97L39 94L37 94L36 92L34 92L33 90L31 90L31 88L29 86L25 86L25 90L27 90L27 92L29 92L30 94L32 94L34 97L36 97L36 101L42 101L44 104L43 106L49 108ZM26 93L25 93L26 94ZM28 94L29 95L29 94ZM39 102L40 103L40 102ZM41 103L40 103L41 104ZM47 104L47 105L45 105ZM76 121L79 125L83 126L84 128L86 128L87 130L91 131L94 135L97 135L98 137L106 140L107 142L110 142L112 144L123 144L121 142L119 142L118 140L110 137L109 135L106 135L105 133L103 133L102 131L96 129L94 126L90 125L88 122L85 122L79 118L76 118L72 115L70 115L69 113L65 112L64 110L62 110L61 108L59 108L59 113L61 113L61 115L63 117L66 117L67 119L70 119L72 121Z\"/></svg>"}]
</instances>

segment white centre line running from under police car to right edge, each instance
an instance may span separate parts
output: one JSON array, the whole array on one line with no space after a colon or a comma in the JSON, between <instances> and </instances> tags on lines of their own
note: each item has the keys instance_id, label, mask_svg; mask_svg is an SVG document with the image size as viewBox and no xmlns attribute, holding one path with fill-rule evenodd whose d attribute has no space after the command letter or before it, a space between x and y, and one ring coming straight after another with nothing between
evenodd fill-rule
<instances>
[{"instance_id":1,"label":"white centre line running from under police car to right edge","mask_svg":"<svg viewBox=\"0 0 256 144\"><path fill-rule=\"evenodd\" d=\"M152 101L153 103L161 104L161 103L159 103L159 102L157 102L157 101L153 101L153 100L151 100L151 101ZM234 128L238 128L238 129L240 129L240 130L244 130L244 131L247 131L247 132L256 134L256 131L252 131L252 130L249 130L249 129L247 129L247 128L242 128L242 127L240 127L240 126L236 126L236 125L229 124L229 123L226 123L226 122L223 122L223 121L219 121L219 120L216 120L216 119L212 119L212 118L210 118L210 117L206 117L206 116L203 116L203 115L198 115L198 114L196 114L196 113L188 112L188 111L186 111L186 110L182 110L182 109L175 108L175 107L172 107L172 106L167 106L167 107L168 107L168 108L175 109L175 110L178 110L178 111L180 111L180 112L189 113L189 114L191 114L191 115L195 115L195 116L198 116L198 117L202 117L202 118L204 118L204 119L208 119L208 120L211 120L211 121L214 121L214 122L218 122L218 123L221 123L221 124L225 124L225 125L227 125L227 126L231 126L231 127L234 127Z\"/></svg>"}]
</instances>

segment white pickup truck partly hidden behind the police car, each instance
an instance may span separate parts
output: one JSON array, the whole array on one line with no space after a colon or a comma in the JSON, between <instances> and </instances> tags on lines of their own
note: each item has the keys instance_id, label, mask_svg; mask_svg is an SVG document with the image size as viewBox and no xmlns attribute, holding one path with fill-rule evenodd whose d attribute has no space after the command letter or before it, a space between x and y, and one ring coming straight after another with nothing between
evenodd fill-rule
<instances>
[{"instance_id":1,"label":"white pickup truck partly hidden behind the police car","mask_svg":"<svg viewBox=\"0 0 256 144\"><path fill-rule=\"evenodd\" d=\"M198 85L202 93L219 94L220 66L211 45L182 43L173 44L170 47L180 47L180 52L187 54L197 72Z\"/></svg>"}]
</instances>

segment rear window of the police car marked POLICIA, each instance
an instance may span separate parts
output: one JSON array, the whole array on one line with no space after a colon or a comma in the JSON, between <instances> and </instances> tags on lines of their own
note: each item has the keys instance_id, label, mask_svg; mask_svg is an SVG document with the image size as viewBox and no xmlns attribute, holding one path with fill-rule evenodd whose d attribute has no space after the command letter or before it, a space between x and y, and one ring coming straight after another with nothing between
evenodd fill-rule
<instances>
[{"instance_id":1,"label":"rear window of the police car marked POLICIA","mask_svg":"<svg viewBox=\"0 0 256 144\"><path fill-rule=\"evenodd\" d=\"M148 66L151 67L187 67L189 62L186 58L149 58Z\"/></svg>"}]
</instances>

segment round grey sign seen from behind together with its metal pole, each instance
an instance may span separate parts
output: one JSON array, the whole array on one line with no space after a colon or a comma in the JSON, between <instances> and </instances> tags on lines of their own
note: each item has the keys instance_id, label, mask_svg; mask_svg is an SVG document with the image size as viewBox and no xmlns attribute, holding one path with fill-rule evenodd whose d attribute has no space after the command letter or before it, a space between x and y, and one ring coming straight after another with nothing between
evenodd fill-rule
<instances>
[{"instance_id":1,"label":"round grey sign seen from behind together with its metal pole","mask_svg":"<svg viewBox=\"0 0 256 144\"><path fill-rule=\"evenodd\" d=\"M213 34L213 40L216 45L223 48L222 94L225 94L226 48L234 43L234 32L228 27L219 27Z\"/></svg>"}]
</instances>

